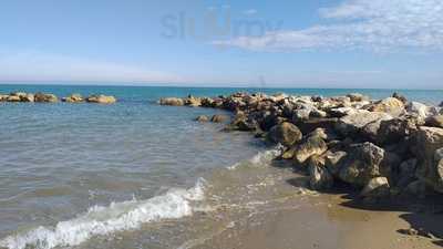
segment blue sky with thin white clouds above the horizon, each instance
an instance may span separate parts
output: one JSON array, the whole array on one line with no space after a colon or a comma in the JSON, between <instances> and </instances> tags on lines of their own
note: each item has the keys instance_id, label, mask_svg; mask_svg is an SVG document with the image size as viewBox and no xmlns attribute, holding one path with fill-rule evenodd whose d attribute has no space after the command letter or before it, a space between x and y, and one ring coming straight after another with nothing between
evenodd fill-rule
<instances>
[{"instance_id":1,"label":"blue sky with thin white clouds above the horizon","mask_svg":"<svg viewBox=\"0 0 443 249\"><path fill-rule=\"evenodd\" d=\"M4 0L0 82L442 89L441 0Z\"/></svg>"}]
</instances>

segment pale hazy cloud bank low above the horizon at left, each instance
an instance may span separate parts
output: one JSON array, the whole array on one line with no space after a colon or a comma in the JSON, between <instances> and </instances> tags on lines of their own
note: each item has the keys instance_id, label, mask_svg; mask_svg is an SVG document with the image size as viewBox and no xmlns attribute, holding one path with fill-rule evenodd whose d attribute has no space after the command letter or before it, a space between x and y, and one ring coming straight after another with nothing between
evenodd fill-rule
<instances>
[{"instance_id":1,"label":"pale hazy cloud bank low above the horizon at left","mask_svg":"<svg viewBox=\"0 0 443 249\"><path fill-rule=\"evenodd\" d=\"M40 52L0 53L0 81L181 82L141 66Z\"/></svg>"}]
</instances>

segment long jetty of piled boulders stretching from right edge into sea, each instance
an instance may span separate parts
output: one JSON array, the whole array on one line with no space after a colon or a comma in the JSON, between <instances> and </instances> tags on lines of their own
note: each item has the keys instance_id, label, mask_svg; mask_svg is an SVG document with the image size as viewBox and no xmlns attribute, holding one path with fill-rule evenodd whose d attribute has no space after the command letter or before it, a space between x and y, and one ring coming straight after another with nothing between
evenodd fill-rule
<instances>
[{"instance_id":1,"label":"long jetty of piled boulders stretching from right edge into sea","mask_svg":"<svg viewBox=\"0 0 443 249\"><path fill-rule=\"evenodd\" d=\"M253 132L284 151L306 172L316 190L338 183L368 199L443 194L443 108L394 93L384 100L362 94L167 97L162 105L200 106L234 113L226 129ZM443 103L442 103L443 104ZM196 121L223 122L219 116Z\"/></svg>"}]
</instances>

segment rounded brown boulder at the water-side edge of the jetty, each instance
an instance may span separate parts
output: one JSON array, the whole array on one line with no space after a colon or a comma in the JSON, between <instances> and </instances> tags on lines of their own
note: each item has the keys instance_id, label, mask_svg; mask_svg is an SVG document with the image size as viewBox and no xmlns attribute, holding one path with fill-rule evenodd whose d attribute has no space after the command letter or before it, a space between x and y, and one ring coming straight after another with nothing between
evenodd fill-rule
<instances>
[{"instance_id":1,"label":"rounded brown boulder at the water-side edge of the jetty","mask_svg":"<svg viewBox=\"0 0 443 249\"><path fill-rule=\"evenodd\" d=\"M268 138L274 143L280 143L290 147L301 141L302 134L296 125L289 122L284 122L274 126L269 131Z\"/></svg>"}]
</instances>

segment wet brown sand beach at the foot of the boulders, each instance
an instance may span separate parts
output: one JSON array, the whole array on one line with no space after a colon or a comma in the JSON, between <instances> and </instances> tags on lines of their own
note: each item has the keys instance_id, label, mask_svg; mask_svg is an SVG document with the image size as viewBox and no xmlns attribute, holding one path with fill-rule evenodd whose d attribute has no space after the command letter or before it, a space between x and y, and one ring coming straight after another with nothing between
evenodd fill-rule
<instances>
[{"instance_id":1,"label":"wet brown sand beach at the foot of the boulders","mask_svg":"<svg viewBox=\"0 0 443 249\"><path fill-rule=\"evenodd\" d=\"M422 249L442 248L443 216L437 198L368 204L351 200L349 189L317 194L307 190L306 177L288 168L247 169L222 174L217 183L229 186L223 198L234 204L209 216L218 218L208 232L181 248L196 249ZM255 186L236 196L241 185ZM271 180L272 179L272 180ZM223 188L218 186L218 188ZM219 190L219 189L218 189ZM217 191L218 191L217 190ZM237 200L236 200L237 198ZM248 203L253 200L253 205ZM262 203L260 203L264 200ZM266 200L266 201L265 201ZM248 207L239 210L236 207ZM254 207L253 207L254 206ZM241 209L241 208L240 208ZM208 214L207 214L208 215ZM414 234L412 229L418 231ZM198 230L198 229L197 229ZM412 234L412 235L410 235ZM198 237L197 237L198 238Z\"/></svg>"}]
</instances>

